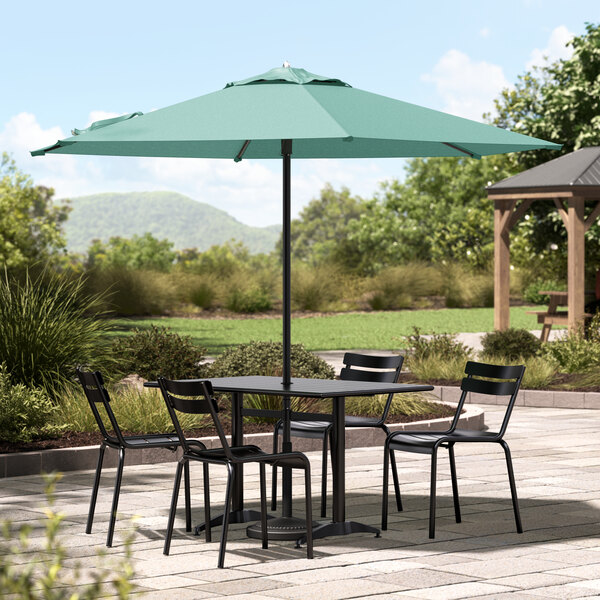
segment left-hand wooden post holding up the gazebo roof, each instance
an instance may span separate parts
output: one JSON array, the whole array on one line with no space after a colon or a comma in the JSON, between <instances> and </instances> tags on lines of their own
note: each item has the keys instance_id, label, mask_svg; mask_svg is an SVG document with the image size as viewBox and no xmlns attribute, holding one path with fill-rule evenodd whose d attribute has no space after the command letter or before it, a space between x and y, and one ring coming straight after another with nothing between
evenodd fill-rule
<instances>
[{"instance_id":1,"label":"left-hand wooden post holding up the gazebo roof","mask_svg":"<svg viewBox=\"0 0 600 600\"><path fill-rule=\"evenodd\" d=\"M494 200L494 329L510 326L510 229L515 200Z\"/></svg>"}]
</instances>

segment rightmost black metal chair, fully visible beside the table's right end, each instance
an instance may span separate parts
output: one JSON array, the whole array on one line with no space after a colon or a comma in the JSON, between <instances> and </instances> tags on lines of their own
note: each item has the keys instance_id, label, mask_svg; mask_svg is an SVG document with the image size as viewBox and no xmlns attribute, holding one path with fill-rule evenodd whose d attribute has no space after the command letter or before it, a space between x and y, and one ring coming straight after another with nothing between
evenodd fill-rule
<instances>
[{"instance_id":1,"label":"rightmost black metal chair, fully visible beside the table's right end","mask_svg":"<svg viewBox=\"0 0 600 600\"><path fill-rule=\"evenodd\" d=\"M467 374L467 377L462 380L460 386L462 393L458 402L458 406L456 407L456 413L454 415L452 424L447 431L396 431L388 436L385 442L385 454L383 461L383 506L381 515L381 529L387 529L389 460L390 458L393 459L395 451L400 450L404 452L416 452L419 454L431 455L429 537L433 539L435 537L435 487L438 448L446 448L448 450L448 455L450 458L450 475L452 478L452 496L454 499L454 515L456 522L460 523L461 516L458 499L458 483L456 480L456 464L454 461L454 445L459 442L495 442L502 446L506 455L506 466L508 469L508 480L510 483L510 493L512 497L513 511L515 514L515 523L517 526L517 532L523 533L510 449L508 444L502 438L506 432L508 421L517 399L517 394L519 392L519 387L521 386L524 372L524 366L499 366L469 361L465 367L465 373ZM494 396L510 396L506 407L506 412L504 413L504 418L498 432L457 429L460 413L469 392L474 392L477 394L490 394ZM396 503L398 505L398 510L401 511L402 501L398 489L396 490Z\"/></svg>"}]
</instances>

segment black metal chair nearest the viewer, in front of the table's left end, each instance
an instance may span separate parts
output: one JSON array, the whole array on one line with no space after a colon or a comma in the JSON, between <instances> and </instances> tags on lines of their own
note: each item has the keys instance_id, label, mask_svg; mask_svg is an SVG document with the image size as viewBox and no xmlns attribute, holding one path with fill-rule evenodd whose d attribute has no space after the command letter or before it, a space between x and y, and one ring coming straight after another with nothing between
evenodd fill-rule
<instances>
[{"instance_id":1,"label":"black metal chair nearest the viewer, in front of the table's left end","mask_svg":"<svg viewBox=\"0 0 600 600\"><path fill-rule=\"evenodd\" d=\"M173 486L173 498L171 500L171 509L169 512L169 522L165 538L164 554L169 554L171 547L171 537L173 535L173 524L175 521L175 511L177 509L177 499L179 496L179 486L181 483L181 471L189 467L189 461L195 460L203 463L204 466L204 517L205 517L205 535L206 541L211 539L210 526L210 493L208 479L208 465L218 464L227 467L227 487L225 491L225 508L223 511L223 526L221 529L221 544L219 547L218 567L223 568L225 560L225 546L227 544L227 530L229 527L229 512L231 506L232 483L234 477L233 465L255 462L260 470L260 512L261 512L261 533L262 547L268 548L267 537L267 493L265 480L265 465L278 465L281 467L290 467L292 469L302 469L304 471L305 496L306 496L306 522L312 523L312 497L310 490L310 462L301 452L285 452L281 454L268 454L263 452L258 446L230 446L225 437L223 427L217 415L218 407L213 397L213 390L210 381L171 381L159 377L158 383L165 398L167 409L173 420L173 425L179 436L183 447L183 456L177 463L175 473L175 483ZM219 435L222 447L210 450L196 450L188 446L187 440L183 435L177 411L192 414L210 414L215 428ZM312 529L307 527L306 531L306 555L313 558L313 539Z\"/></svg>"}]
</instances>

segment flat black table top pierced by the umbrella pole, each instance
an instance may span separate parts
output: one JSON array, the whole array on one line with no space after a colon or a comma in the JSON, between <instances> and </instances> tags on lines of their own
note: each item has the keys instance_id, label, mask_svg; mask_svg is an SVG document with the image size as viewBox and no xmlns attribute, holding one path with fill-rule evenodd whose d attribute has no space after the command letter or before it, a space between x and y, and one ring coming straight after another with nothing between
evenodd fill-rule
<instances>
[{"instance_id":1,"label":"flat black table top pierced by the umbrella pole","mask_svg":"<svg viewBox=\"0 0 600 600\"><path fill-rule=\"evenodd\" d=\"M427 392L433 389L432 385L425 384L378 383L341 379L303 379L300 377L292 377L291 385L284 386L281 377L265 377L261 375L214 377L209 378L209 381L216 392L303 396L307 398L370 396L390 393L401 394L403 392ZM156 381L148 381L144 386L158 387L158 383Z\"/></svg>"}]
</instances>

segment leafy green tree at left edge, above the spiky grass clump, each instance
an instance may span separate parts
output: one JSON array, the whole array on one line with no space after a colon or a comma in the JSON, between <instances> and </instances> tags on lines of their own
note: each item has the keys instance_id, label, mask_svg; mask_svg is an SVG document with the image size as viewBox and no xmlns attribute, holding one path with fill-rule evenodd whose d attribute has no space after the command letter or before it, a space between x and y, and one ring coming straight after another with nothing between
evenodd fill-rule
<instances>
[{"instance_id":1,"label":"leafy green tree at left edge, above the spiky grass clump","mask_svg":"<svg viewBox=\"0 0 600 600\"><path fill-rule=\"evenodd\" d=\"M66 246L62 224L70 207L54 206L54 190L35 186L6 153L0 160L0 263L20 268L46 262Z\"/></svg>"}]
</instances>

